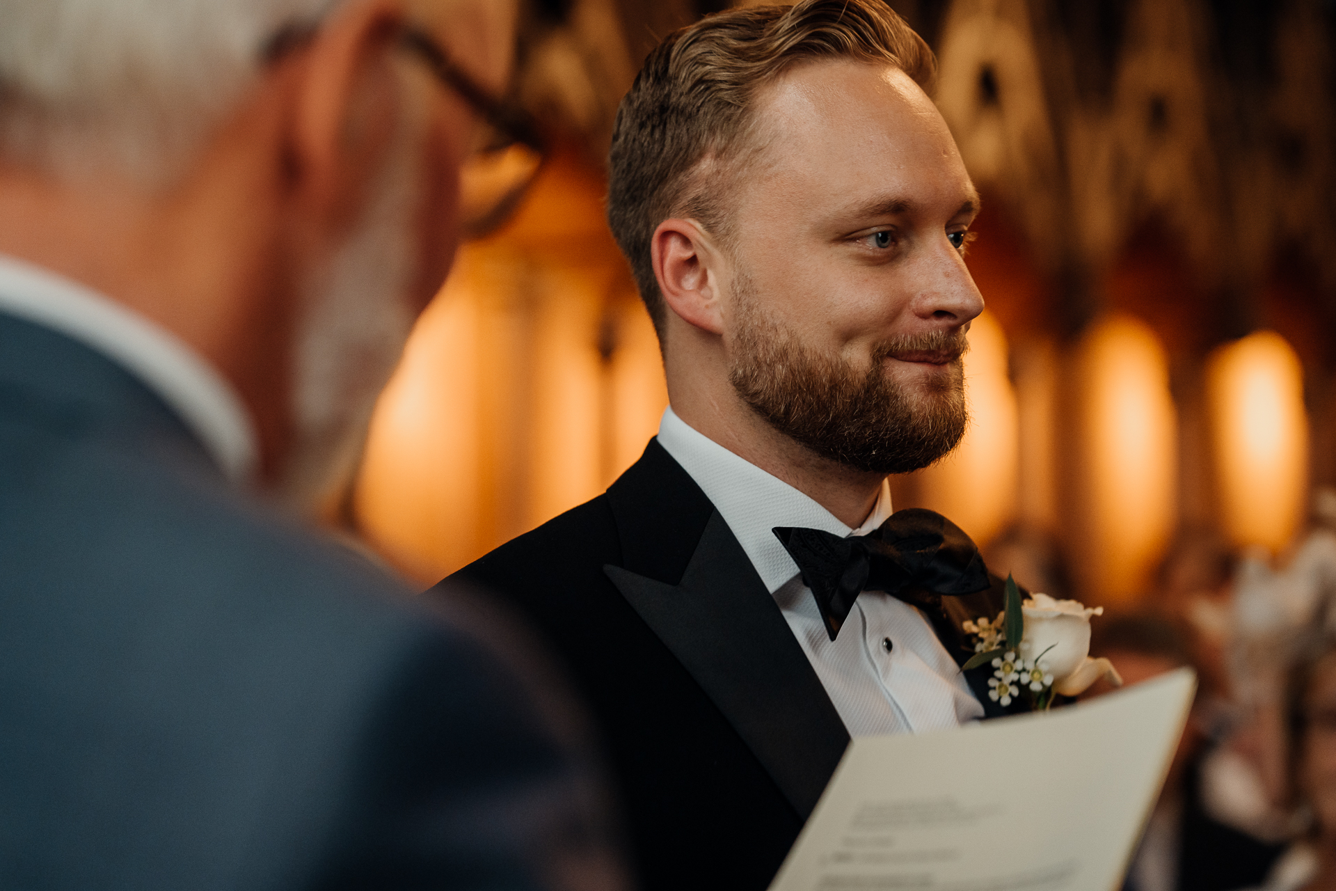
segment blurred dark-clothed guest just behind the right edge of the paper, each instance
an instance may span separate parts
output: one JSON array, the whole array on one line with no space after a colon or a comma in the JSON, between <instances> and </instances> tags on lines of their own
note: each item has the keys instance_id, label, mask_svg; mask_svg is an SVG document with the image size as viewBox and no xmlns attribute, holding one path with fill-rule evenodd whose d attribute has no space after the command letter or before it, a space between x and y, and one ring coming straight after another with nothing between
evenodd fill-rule
<instances>
[{"instance_id":1,"label":"blurred dark-clothed guest just behind the right edge of the paper","mask_svg":"<svg viewBox=\"0 0 1336 891\"><path fill-rule=\"evenodd\" d=\"M1217 819L1204 800L1202 763L1210 739L1201 707L1210 701L1217 679L1201 672L1197 649L1177 624L1154 613L1110 616L1094 627L1090 651L1112 661L1124 683L1189 667L1202 684L1124 891L1233 891L1260 882L1281 852L1280 846ZM1086 696L1109 691L1101 683Z\"/></svg>"}]
</instances>

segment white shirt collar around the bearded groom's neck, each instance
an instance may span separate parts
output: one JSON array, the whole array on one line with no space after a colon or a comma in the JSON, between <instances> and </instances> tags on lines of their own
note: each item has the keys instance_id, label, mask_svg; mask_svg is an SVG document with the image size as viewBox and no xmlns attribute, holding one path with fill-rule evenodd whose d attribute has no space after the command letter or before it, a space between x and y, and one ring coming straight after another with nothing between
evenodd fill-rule
<instances>
[{"instance_id":1,"label":"white shirt collar around the bearded groom's neck","mask_svg":"<svg viewBox=\"0 0 1336 891\"><path fill-rule=\"evenodd\" d=\"M771 532L806 526L835 536L863 536L891 516L891 486L883 480L872 513L858 529L840 522L816 501L677 417L672 406L659 423L659 445L691 474L728 524L771 593L798 574L798 564Z\"/></svg>"}]
</instances>

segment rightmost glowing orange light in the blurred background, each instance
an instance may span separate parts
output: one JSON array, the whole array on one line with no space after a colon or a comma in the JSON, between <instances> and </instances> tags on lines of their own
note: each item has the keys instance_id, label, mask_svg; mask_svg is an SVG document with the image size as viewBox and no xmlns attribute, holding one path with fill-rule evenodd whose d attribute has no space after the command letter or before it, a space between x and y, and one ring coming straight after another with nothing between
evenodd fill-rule
<instances>
[{"instance_id":1,"label":"rightmost glowing orange light in the blurred background","mask_svg":"<svg viewBox=\"0 0 1336 891\"><path fill-rule=\"evenodd\" d=\"M1212 353L1206 386L1221 526L1237 545L1277 550L1295 534L1308 482L1299 357L1257 331Z\"/></svg>"}]
</instances>

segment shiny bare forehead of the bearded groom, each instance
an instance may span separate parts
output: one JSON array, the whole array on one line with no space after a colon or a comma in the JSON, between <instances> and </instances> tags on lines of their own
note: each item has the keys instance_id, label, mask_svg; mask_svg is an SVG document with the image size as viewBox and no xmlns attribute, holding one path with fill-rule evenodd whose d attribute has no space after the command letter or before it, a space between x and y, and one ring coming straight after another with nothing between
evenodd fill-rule
<instances>
[{"instance_id":1,"label":"shiny bare forehead of the bearded groom","mask_svg":"<svg viewBox=\"0 0 1336 891\"><path fill-rule=\"evenodd\" d=\"M891 65L802 64L760 92L756 124L763 163L744 188L799 202L808 216L875 204L879 195L949 215L977 203L937 106Z\"/></svg>"}]
</instances>

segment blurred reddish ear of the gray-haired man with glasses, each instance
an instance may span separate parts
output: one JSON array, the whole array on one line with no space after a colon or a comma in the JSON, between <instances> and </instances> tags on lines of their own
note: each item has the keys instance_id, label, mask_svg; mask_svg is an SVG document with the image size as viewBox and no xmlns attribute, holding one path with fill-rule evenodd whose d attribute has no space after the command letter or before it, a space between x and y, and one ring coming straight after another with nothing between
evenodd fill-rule
<instances>
[{"instance_id":1,"label":"blurred reddish ear of the gray-haired man with glasses","mask_svg":"<svg viewBox=\"0 0 1336 891\"><path fill-rule=\"evenodd\" d=\"M399 0L345 4L290 64L298 68L286 167L302 203L333 224L357 215L399 115L390 53Z\"/></svg>"}]
</instances>

